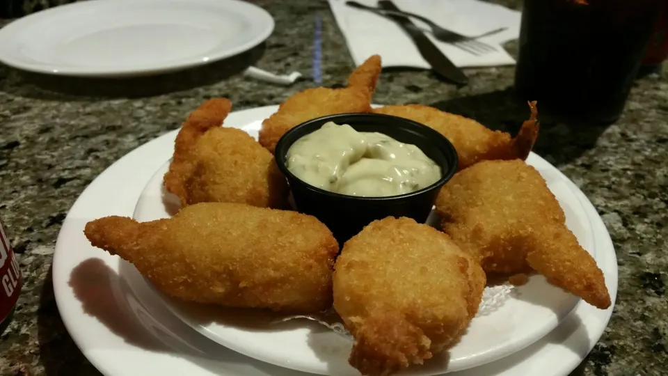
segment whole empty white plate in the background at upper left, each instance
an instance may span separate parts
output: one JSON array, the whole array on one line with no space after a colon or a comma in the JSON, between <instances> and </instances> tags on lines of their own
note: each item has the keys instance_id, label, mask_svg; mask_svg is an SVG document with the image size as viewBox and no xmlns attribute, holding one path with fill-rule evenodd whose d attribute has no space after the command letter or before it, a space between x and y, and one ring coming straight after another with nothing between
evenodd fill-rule
<instances>
[{"instance_id":1,"label":"whole empty white plate in the background at upper left","mask_svg":"<svg viewBox=\"0 0 668 376\"><path fill-rule=\"evenodd\" d=\"M245 1L82 1L0 29L0 61L58 75L154 74L244 52L273 25L269 13Z\"/></svg>"}]
</instances>

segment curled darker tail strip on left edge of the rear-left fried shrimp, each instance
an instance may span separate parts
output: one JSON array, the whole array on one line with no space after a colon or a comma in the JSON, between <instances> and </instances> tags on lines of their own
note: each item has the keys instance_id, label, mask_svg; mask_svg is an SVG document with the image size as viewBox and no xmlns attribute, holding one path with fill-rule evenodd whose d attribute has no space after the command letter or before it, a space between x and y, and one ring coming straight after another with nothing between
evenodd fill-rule
<instances>
[{"instance_id":1,"label":"curled darker tail strip on left edge of the rear-left fried shrimp","mask_svg":"<svg viewBox=\"0 0 668 376\"><path fill-rule=\"evenodd\" d=\"M212 98L200 104L198 109L189 114L176 136L172 162L164 177L164 185L168 191L180 198L186 196L184 178L191 168L190 151L202 134L214 127L220 127L231 110L232 102L229 100Z\"/></svg>"}]
</instances>

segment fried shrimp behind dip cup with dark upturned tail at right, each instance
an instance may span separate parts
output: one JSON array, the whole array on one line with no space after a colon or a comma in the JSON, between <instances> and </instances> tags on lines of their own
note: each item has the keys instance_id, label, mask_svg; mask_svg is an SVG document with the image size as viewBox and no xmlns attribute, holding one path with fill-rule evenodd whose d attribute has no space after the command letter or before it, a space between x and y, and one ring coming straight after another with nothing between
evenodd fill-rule
<instances>
[{"instance_id":1,"label":"fried shrimp behind dip cup with dark upturned tail at right","mask_svg":"<svg viewBox=\"0 0 668 376\"><path fill-rule=\"evenodd\" d=\"M518 135L493 131L477 121L422 104L404 104L374 109L375 113L399 116L434 128L452 142L459 155L459 169L485 159L526 159L538 137L536 102L530 102L531 118Z\"/></svg>"}]
</instances>

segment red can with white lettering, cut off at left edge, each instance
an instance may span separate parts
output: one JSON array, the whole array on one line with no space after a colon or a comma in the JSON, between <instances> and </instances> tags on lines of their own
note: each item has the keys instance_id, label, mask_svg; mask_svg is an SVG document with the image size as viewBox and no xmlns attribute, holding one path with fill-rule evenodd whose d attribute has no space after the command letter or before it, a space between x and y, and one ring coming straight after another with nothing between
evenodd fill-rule
<instances>
[{"instance_id":1,"label":"red can with white lettering, cut off at left edge","mask_svg":"<svg viewBox=\"0 0 668 376\"><path fill-rule=\"evenodd\" d=\"M11 318L23 285L19 263L0 221L0 328Z\"/></svg>"}]
</instances>

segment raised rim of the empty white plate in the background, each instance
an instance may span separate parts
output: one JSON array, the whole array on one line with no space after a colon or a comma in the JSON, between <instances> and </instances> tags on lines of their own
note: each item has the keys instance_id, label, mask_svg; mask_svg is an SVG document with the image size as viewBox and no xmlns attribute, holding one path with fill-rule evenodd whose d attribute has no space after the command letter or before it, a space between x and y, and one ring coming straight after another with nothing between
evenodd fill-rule
<instances>
[{"instance_id":1,"label":"raised rim of the empty white plate in the background","mask_svg":"<svg viewBox=\"0 0 668 376\"><path fill-rule=\"evenodd\" d=\"M6 24L0 28L0 62L4 63L12 68L17 70L23 70L26 72L40 73L44 75L56 75L62 77L136 77L136 76L145 76L145 75L157 75L167 72L175 72L178 70L186 70L188 68L194 68L202 65L207 65L214 63L216 61L221 61L224 58L230 58L236 56L243 52L246 52L260 43L267 40L269 36L273 33L273 30L276 26L276 22L273 17L267 10L257 6L255 3L250 3L248 1L241 0L168 0L170 3L183 3L190 4L193 3L202 3L210 4L218 8L235 8L241 13L253 13L253 17L246 17L249 22L253 22L257 25L264 24L255 38L252 38L250 41L238 45L237 47L230 49L223 49L214 51L210 54L207 61L202 61L200 58L181 58L177 61L171 61L166 63L154 63L152 65L138 65L138 68L133 68L132 66L120 67L120 68L111 68L111 67L78 67L72 65L63 65L58 63L30 63L22 58L15 57L15 48L13 47L2 47L2 45L10 46L8 43L3 43L3 40L12 38L15 33L21 32L24 28L31 29L34 27L32 24L39 22L41 19L51 17L56 13L69 13L72 11L86 10L86 8L102 8L102 7L112 7L112 8L122 8L123 6L132 7L138 2L151 3L154 0L113 0L113 1L78 1L75 3L67 3L63 6L57 6L54 8L49 8L42 10L38 13L33 13L31 15L26 15L16 19L9 24ZM72 10L74 9L74 10ZM262 17L259 19L258 17Z\"/></svg>"}]
</instances>

